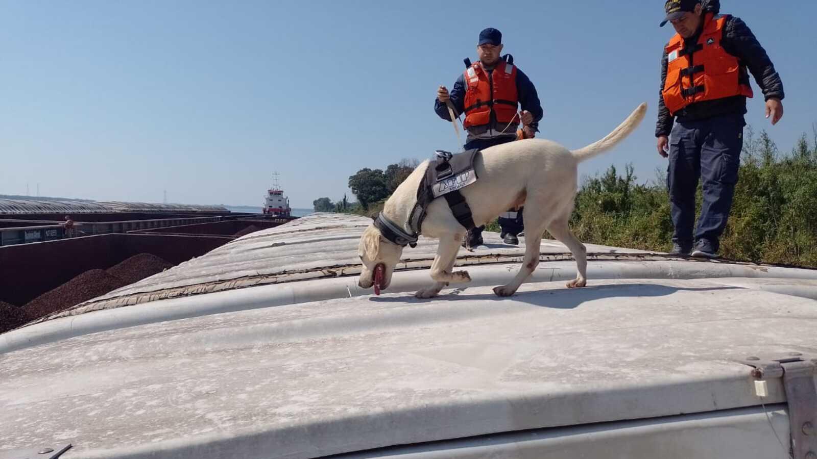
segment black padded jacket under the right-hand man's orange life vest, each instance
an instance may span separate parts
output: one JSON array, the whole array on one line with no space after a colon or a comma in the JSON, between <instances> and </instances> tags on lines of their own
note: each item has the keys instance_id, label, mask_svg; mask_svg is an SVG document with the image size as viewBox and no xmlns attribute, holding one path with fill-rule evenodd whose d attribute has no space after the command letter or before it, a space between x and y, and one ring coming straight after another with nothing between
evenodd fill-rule
<instances>
[{"instance_id":1,"label":"black padded jacket under the right-hand man's orange life vest","mask_svg":"<svg viewBox=\"0 0 817 459\"><path fill-rule=\"evenodd\" d=\"M685 44L694 46L698 42L700 33L694 37L685 40ZM740 18L730 16L726 20L723 33L723 41L721 42L723 48L730 55L738 58L741 65L740 81L744 83L749 82L747 68L755 77L757 86L763 91L763 96L766 100L777 98L783 100L785 94L783 91L783 82L780 81L780 76L775 71L775 65L771 63L766 50L757 42L752 30L748 28L746 23ZM661 58L661 89L659 90L659 121L655 127L655 136L669 136L672 131L672 123L674 118L669 113L667 106L664 105L663 92L664 82L667 80L667 50L663 51ZM714 116L721 116L724 114L746 114L746 97L734 96L726 97L718 100L704 100L686 106L681 109L676 117L680 121L699 121Z\"/></svg>"}]
</instances>

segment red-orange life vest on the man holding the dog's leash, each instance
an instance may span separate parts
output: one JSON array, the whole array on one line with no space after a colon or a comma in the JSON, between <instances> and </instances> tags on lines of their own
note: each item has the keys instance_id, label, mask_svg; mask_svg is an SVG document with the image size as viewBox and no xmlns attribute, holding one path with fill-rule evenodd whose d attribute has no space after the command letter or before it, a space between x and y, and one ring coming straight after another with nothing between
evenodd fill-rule
<instances>
[{"instance_id":1,"label":"red-orange life vest on the man holding the dog's leash","mask_svg":"<svg viewBox=\"0 0 817 459\"><path fill-rule=\"evenodd\" d=\"M516 91L516 66L500 60L489 76L476 62L465 71L465 127L484 126L491 122L491 112L498 123L516 118L519 94Z\"/></svg>"}]
</instances>

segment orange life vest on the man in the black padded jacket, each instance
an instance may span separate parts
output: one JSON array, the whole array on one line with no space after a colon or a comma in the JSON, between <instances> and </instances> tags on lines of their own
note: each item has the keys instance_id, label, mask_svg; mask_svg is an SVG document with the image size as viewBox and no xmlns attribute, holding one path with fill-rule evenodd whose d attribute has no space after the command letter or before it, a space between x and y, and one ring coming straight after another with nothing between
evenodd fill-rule
<instances>
[{"instance_id":1,"label":"orange life vest on the man in the black padded jacket","mask_svg":"<svg viewBox=\"0 0 817 459\"><path fill-rule=\"evenodd\" d=\"M680 34L667 43L667 81L662 95L671 114L703 100L754 96L752 87L739 80L742 65L738 58L721 47L728 18L708 13L691 55Z\"/></svg>"}]
</instances>

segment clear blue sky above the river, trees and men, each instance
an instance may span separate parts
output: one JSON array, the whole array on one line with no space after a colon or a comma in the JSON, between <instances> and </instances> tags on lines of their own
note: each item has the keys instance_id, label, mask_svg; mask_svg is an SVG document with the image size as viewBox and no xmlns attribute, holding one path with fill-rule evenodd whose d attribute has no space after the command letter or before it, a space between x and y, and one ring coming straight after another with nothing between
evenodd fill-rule
<instances>
[{"instance_id":1,"label":"clear blue sky above the river, trees and men","mask_svg":"<svg viewBox=\"0 0 817 459\"><path fill-rule=\"evenodd\" d=\"M817 122L817 2L722 0L769 51L787 99L783 150ZM663 0L569 2L42 2L0 0L0 194L259 205L272 172L293 207L341 198L362 167L456 149L433 113L475 56L504 34L538 87L542 136L578 148L642 101L650 112L583 175L654 148ZM757 87L756 87L757 90Z\"/></svg>"}]
</instances>

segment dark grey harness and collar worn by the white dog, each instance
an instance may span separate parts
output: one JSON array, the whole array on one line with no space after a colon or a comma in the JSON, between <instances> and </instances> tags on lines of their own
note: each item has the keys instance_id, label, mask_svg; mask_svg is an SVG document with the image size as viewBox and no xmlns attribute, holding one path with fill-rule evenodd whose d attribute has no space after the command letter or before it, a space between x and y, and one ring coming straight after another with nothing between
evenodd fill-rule
<instances>
[{"instance_id":1,"label":"dark grey harness and collar worn by the white dog","mask_svg":"<svg viewBox=\"0 0 817 459\"><path fill-rule=\"evenodd\" d=\"M417 238L422 232L422 221L426 219L428 206L436 198L445 198L449 208L460 225L466 230L473 229L474 218L471 207L460 193L460 189L472 185L476 180L474 161L479 149L469 149L461 154L437 150L437 159L428 163L426 175L417 187L417 203L414 205L404 226L389 220L382 213L377 215L374 226L391 243L401 247L417 247Z\"/></svg>"}]
</instances>

